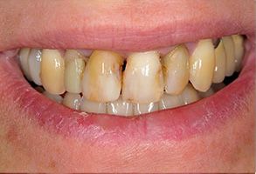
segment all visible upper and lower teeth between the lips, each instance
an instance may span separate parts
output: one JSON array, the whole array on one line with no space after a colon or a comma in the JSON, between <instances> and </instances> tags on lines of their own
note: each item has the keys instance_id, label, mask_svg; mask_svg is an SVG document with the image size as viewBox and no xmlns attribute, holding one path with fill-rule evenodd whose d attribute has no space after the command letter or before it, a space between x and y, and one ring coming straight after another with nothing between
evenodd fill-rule
<instances>
[{"instance_id":1,"label":"all visible upper and lower teeth between the lips","mask_svg":"<svg viewBox=\"0 0 256 174\"><path fill-rule=\"evenodd\" d=\"M197 102L238 77L244 37L216 40L128 53L23 48L18 58L45 97L73 110L130 117Z\"/></svg>"}]
</instances>

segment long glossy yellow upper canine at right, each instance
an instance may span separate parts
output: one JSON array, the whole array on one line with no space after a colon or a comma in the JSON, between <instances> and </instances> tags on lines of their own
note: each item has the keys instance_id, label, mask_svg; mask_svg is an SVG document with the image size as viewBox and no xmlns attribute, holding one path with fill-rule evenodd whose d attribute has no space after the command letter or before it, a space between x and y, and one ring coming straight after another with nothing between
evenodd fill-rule
<instances>
[{"instance_id":1,"label":"long glossy yellow upper canine at right","mask_svg":"<svg viewBox=\"0 0 256 174\"><path fill-rule=\"evenodd\" d=\"M200 40L190 57L190 82L195 89L206 91L210 88L214 66L214 47L211 39Z\"/></svg>"}]
</instances>

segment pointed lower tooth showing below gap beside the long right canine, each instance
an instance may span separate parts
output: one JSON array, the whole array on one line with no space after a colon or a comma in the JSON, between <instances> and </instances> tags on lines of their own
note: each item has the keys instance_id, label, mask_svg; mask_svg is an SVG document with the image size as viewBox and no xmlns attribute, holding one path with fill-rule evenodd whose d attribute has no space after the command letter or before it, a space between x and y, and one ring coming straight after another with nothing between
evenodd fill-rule
<instances>
[{"instance_id":1,"label":"pointed lower tooth showing below gap beside the long right canine","mask_svg":"<svg viewBox=\"0 0 256 174\"><path fill-rule=\"evenodd\" d=\"M200 99L197 90L195 90L190 84L183 90L182 93L183 104L191 104Z\"/></svg>"}]
</instances>

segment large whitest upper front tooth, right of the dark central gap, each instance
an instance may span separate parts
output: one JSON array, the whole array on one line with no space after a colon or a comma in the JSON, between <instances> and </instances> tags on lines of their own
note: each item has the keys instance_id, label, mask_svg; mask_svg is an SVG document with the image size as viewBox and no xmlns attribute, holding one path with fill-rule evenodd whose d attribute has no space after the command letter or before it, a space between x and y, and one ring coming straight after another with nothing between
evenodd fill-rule
<instances>
[{"instance_id":1,"label":"large whitest upper front tooth, right of the dark central gap","mask_svg":"<svg viewBox=\"0 0 256 174\"><path fill-rule=\"evenodd\" d=\"M132 53L123 75L122 98L131 103L149 104L163 94L163 72L156 51Z\"/></svg>"}]
</instances>

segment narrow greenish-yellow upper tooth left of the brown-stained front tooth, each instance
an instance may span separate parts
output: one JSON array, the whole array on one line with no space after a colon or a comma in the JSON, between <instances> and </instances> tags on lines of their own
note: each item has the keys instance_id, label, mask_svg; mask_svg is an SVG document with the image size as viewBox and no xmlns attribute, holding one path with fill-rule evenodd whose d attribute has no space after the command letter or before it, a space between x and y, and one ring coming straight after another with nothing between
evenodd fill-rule
<instances>
[{"instance_id":1,"label":"narrow greenish-yellow upper tooth left of the brown-stained front tooth","mask_svg":"<svg viewBox=\"0 0 256 174\"><path fill-rule=\"evenodd\" d=\"M66 50L64 57L66 91L80 93L82 91L82 75L86 66L85 57L77 50Z\"/></svg>"}]
</instances>

